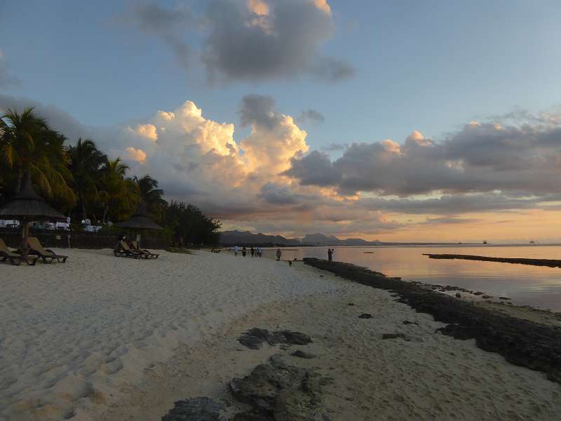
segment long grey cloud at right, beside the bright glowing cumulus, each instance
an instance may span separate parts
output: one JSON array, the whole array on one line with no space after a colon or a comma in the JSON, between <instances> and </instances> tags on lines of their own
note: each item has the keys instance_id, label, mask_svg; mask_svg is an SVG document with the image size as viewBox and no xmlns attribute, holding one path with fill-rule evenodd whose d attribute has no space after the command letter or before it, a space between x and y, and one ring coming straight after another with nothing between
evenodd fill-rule
<instances>
[{"instance_id":1,"label":"long grey cloud at right, beside the bright glowing cumulus","mask_svg":"<svg viewBox=\"0 0 561 421\"><path fill-rule=\"evenodd\" d=\"M292 159L285 174L303 185L331 186L342 194L497 190L539 196L558 191L560 163L561 127L556 123L472 122L441 142L415 131L403 144L353 143L334 161L312 152Z\"/></svg>"}]
</instances>

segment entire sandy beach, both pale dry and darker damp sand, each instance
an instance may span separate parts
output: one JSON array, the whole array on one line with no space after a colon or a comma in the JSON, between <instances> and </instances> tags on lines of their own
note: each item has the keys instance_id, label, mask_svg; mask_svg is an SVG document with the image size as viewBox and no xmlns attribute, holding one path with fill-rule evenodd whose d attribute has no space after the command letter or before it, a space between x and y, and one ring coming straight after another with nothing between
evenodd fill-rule
<instances>
[{"instance_id":1,"label":"entire sandy beach, both pale dry and darker damp sand","mask_svg":"<svg viewBox=\"0 0 561 421\"><path fill-rule=\"evenodd\" d=\"M387 290L229 253L55 251L67 263L2 267L1 420L158 420L198 396L234 415L229 381L274 354L330 378L330 420L561 418L560 384L437 333L445 323ZM250 328L313 342L249 349Z\"/></svg>"}]
</instances>

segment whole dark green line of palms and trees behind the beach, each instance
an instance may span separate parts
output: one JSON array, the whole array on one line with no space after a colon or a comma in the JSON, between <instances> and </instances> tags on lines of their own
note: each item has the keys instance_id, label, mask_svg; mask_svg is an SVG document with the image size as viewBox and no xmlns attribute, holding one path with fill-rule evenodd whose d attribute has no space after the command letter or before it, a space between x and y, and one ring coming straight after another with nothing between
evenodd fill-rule
<instances>
[{"instance_id":1,"label":"whole dark green line of palms and trees behind the beach","mask_svg":"<svg viewBox=\"0 0 561 421\"><path fill-rule=\"evenodd\" d=\"M34 188L72 221L120 222L143 201L147 213L165 227L173 241L218 243L219 220L191 204L165 201L158 181L146 174L130 176L120 158L110 159L95 142L74 145L54 131L33 108L6 109L0 116L0 206L18 194L29 171Z\"/></svg>"}]
</instances>

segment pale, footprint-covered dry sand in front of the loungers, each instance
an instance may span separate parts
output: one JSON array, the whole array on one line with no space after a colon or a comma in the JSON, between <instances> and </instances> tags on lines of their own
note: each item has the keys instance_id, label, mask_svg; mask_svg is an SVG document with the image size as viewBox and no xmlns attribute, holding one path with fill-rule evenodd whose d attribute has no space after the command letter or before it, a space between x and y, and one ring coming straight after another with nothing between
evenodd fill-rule
<instances>
[{"instance_id":1,"label":"pale, footprint-covered dry sand in front of the loungers","mask_svg":"<svg viewBox=\"0 0 561 421\"><path fill-rule=\"evenodd\" d=\"M269 259L58 251L65 264L0 267L1 420L82 415L232 317L336 288Z\"/></svg>"}]
</instances>

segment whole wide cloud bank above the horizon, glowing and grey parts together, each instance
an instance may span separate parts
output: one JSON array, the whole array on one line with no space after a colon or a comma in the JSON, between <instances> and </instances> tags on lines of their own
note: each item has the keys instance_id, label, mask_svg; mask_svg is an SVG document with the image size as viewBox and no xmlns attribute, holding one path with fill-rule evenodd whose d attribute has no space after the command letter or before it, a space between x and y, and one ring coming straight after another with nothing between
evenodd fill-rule
<instances>
[{"instance_id":1,"label":"whole wide cloud bank above the horizon, glowing and grey parts together","mask_svg":"<svg viewBox=\"0 0 561 421\"><path fill-rule=\"evenodd\" d=\"M93 138L124 159L131 175L154 175L167 199L194 203L225 227L372 238L460 226L489 212L521 218L560 208L560 123L553 113L468 123L440 141L414 131L401 143L355 143L332 159L309 151L306 132L264 95L242 98L240 121L250 130L238 141L234 123L208 118L191 101L92 128L56 107L0 95L0 108L28 106L71 142Z\"/></svg>"}]
</instances>

